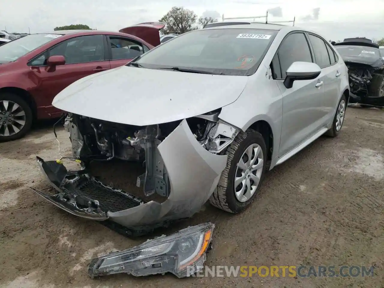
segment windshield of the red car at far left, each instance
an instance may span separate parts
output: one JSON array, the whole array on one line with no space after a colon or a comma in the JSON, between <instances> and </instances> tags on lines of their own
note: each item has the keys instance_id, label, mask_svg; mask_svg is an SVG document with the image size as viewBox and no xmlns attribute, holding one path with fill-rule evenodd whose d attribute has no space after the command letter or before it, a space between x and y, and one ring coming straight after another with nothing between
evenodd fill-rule
<instances>
[{"instance_id":1,"label":"windshield of the red car at far left","mask_svg":"<svg viewBox=\"0 0 384 288\"><path fill-rule=\"evenodd\" d=\"M58 34L33 34L0 46L0 63L16 61L36 48L54 40Z\"/></svg>"}]
</instances>

